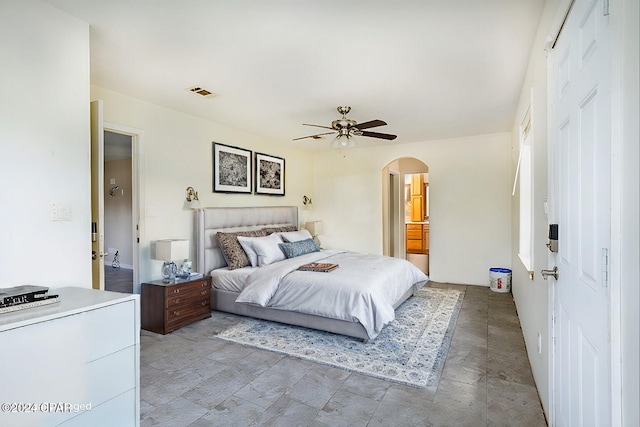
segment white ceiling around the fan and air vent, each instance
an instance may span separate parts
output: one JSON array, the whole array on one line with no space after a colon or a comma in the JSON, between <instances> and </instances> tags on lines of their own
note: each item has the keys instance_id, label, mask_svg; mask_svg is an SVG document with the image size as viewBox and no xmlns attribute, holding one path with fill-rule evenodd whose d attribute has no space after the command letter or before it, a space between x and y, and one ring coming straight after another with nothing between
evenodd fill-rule
<instances>
[{"instance_id":1,"label":"white ceiling around the fan and air vent","mask_svg":"<svg viewBox=\"0 0 640 427\"><path fill-rule=\"evenodd\" d=\"M44 0L91 26L91 83L330 149L339 105L395 141L508 132L544 0ZM199 86L217 96L202 97ZM231 143L233 141L226 141Z\"/></svg>"}]
</instances>

